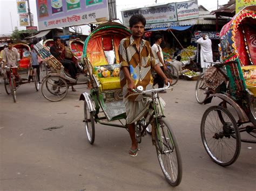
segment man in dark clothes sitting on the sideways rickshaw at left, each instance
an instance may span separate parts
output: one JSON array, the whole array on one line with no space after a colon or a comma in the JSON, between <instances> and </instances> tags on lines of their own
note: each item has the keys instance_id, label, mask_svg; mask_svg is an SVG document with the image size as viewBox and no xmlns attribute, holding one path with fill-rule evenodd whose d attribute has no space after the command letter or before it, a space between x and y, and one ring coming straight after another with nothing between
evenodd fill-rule
<instances>
[{"instance_id":1,"label":"man in dark clothes sitting on the sideways rickshaw at left","mask_svg":"<svg viewBox=\"0 0 256 191\"><path fill-rule=\"evenodd\" d=\"M71 60L67 60L63 58L63 49L60 49L61 48L60 46L62 46L60 44L61 42L59 37L53 38L53 45L50 48L50 52L58 61L60 61L60 63L62 63L64 68L68 69L71 77L73 79L77 79L77 76L76 76L77 70L75 68L76 67L75 63L73 63ZM76 91L76 89L73 88L73 86L72 86L72 91Z\"/></svg>"}]
</instances>

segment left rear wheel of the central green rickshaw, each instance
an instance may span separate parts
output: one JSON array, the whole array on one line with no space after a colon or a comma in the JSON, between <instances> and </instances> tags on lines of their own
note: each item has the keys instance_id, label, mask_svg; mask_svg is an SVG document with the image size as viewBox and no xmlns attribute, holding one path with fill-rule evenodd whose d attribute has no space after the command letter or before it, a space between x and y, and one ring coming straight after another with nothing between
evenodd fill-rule
<instances>
[{"instance_id":1,"label":"left rear wheel of the central green rickshaw","mask_svg":"<svg viewBox=\"0 0 256 191\"><path fill-rule=\"evenodd\" d=\"M84 102L84 122L87 139L89 140L89 143L92 145L95 140L95 122L94 116L92 112L89 111L86 102Z\"/></svg>"}]
</instances>

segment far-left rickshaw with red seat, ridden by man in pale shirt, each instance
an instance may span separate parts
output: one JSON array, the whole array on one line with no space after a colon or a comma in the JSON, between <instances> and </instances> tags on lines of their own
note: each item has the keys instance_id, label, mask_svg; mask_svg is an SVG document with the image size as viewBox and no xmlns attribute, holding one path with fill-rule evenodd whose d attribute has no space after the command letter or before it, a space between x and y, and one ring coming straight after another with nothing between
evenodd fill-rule
<instances>
[{"instance_id":1,"label":"far-left rickshaw with red seat, ridden by man in pale shirt","mask_svg":"<svg viewBox=\"0 0 256 191\"><path fill-rule=\"evenodd\" d=\"M36 91L39 90L39 81L36 73L36 68L32 69L30 66L30 47L25 43L17 43L14 44L13 47L17 48L19 58L19 64L17 67L7 67L4 68L6 71L9 72L9 76L5 76L4 78L4 88L6 93L9 95L12 95L12 98L14 99L14 102L17 101L16 98L16 90L19 86L25 83L34 82ZM16 81L15 76L12 73L12 69L17 68L17 73L19 77L21 78L21 81Z\"/></svg>"}]
</instances>

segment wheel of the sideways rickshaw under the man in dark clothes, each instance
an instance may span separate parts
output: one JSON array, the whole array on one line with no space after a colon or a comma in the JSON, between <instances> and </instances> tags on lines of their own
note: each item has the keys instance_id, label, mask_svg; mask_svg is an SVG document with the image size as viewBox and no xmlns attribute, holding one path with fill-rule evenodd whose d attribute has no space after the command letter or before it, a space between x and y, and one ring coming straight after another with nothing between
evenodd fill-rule
<instances>
[{"instance_id":1,"label":"wheel of the sideways rickshaw under the man in dark clothes","mask_svg":"<svg viewBox=\"0 0 256 191\"><path fill-rule=\"evenodd\" d=\"M51 102L58 102L68 94L68 84L59 76L48 76L41 86L41 93Z\"/></svg>"}]
</instances>

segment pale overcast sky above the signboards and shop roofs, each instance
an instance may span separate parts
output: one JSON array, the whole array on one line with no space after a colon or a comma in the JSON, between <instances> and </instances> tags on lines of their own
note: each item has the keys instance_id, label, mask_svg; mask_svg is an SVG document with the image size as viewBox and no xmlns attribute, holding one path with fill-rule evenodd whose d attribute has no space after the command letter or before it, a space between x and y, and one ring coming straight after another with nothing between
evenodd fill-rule
<instances>
[{"instance_id":1,"label":"pale overcast sky above the signboards and shop roofs","mask_svg":"<svg viewBox=\"0 0 256 191\"><path fill-rule=\"evenodd\" d=\"M48 0L49 1L49 0ZM85 0L84 0L85 1ZM173 2L185 2L186 0L157 0L157 3L173 3ZM199 5L203 5L209 11L217 9L218 0L198 0ZM30 10L34 15L35 26L37 26L37 13L36 13L36 0L29 0ZM219 0L219 5L226 4L228 0ZM141 8L145 5L155 4L156 0L116 0L117 4L117 18L122 20L120 10L127 8ZM0 34L12 33L12 28L18 26L19 30L25 30L25 27L19 27L18 13L16 7L16 0L0 0L0 18L1 28ZM87 27L82 27L83 33L88 33Z\"/></svg>"}]
</instances>

